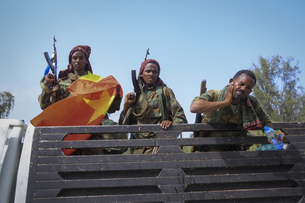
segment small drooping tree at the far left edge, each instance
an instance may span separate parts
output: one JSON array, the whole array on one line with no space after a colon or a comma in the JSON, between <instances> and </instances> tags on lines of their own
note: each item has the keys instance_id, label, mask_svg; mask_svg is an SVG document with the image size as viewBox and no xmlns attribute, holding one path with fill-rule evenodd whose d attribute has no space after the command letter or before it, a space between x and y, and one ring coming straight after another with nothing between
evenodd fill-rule
<instances>
[{"instance_id":1,"label":"small drooping tree at the far left edge","mask_svg":"<svg viewBox=\"0 0 305 203\"><path fill-rule=\"evenodd\" d=\"M13 110L15 97L10 92L0 92L0 118L8 118Z\"/></svg>"}]
</instances>

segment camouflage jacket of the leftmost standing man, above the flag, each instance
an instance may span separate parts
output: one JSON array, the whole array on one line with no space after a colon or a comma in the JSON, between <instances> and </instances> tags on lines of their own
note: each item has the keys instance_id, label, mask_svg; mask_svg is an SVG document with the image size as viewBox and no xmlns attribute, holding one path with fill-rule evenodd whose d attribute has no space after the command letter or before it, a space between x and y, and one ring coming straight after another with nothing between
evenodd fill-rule
<instances>
[{"instance_id":1,"label":"camouflage jacket of the leftmost standing man, above the flag","mask_svg":"<svg viewBox=\"0 0 305 203\"><path fill-rule=\"evenodd\" d=\"M88 73L85 71L83 75L88 75ZM59 90L56 91L56 100L60 101L63 99L66 99L67 97L71 96L70 92L68 91L68 87L75 81L77 80L78 77L70 72L68 75L61 77L57 80L57 84L59 87ZM46 88L51 89L52 83L49 85L44 85ZM50 102L50 96L52 93L46 93L45 91L42 90L41 94L38 97L38 102L40 104L40 108L44 110L46 107L51 105Z\"/></svg>"}]
</instances>

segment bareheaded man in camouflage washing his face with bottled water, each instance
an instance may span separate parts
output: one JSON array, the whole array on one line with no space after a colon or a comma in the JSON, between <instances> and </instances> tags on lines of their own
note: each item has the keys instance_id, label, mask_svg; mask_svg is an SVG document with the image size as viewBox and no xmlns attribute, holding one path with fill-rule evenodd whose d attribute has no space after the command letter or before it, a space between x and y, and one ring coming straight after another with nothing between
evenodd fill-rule
<instances>
[{"instance_id":1,"label":"bareheaded man in camouflage washing his face with bottled water","mask_svg":"<svg viewBox=\"0 0 305 203\"><path fill-rule=\"evenodd\" d=\"M268 126L273 128L267 114L254 96L249 95L256 83L256 77L249 70L240 70L229 80L229 85L221 90L209 90L192 101L192 113L206 113L202 123L243 124L243 131L210 131L204 137L240 137L247 130ZM263 128L262 128L263 130ZM284 139L285 134L281 132ZM280 139L277 132L278 139ZM269 142L272 142L268 140ZM203 147L201 151L246 150L246 145L215 145Z\"/></svg>"}]
</instances>

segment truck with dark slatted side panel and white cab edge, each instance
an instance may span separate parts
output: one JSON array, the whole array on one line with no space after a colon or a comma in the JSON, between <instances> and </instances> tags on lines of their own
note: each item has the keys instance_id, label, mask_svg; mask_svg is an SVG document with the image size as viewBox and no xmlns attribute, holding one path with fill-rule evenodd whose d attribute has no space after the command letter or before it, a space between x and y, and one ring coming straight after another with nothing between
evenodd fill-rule
<instances>
[{"instance_id":1,"label":"truck with dark slatted side panel and white cab edge","mask_svg":"<svg viewBox=\"0 0 305 203\"><path fill-rule=\"evenodd\" d=\"M305 122L273 122L282 150L186 152L267 138L182 138L236 124L36 127L0 119L1 202L305 202ZM156 139L63 141L69 134L153 132ZM62 149L156 146L155 154L65 156Z\"/></svg>"}]
</instances>

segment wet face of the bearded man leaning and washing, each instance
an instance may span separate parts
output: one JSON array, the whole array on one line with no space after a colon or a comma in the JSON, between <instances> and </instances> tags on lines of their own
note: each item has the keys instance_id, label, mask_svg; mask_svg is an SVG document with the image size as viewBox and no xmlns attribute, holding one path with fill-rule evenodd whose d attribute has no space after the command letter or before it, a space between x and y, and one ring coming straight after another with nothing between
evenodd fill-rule
<instances>
[{"instance_id":1,"label":"wet face of the bearded man leaning and washing","mask_svg":"<svg viewBox=\"0 0 305 203\"><path fill-rule=\"evenodd\" d=\"M234 81L230 79L230 82L233 82L233 98L237 101L245 99L252 92L255 85L254 79L246 73L239 75Z\"/></svg>"}]
</instances>

